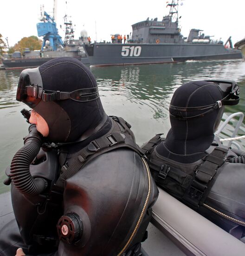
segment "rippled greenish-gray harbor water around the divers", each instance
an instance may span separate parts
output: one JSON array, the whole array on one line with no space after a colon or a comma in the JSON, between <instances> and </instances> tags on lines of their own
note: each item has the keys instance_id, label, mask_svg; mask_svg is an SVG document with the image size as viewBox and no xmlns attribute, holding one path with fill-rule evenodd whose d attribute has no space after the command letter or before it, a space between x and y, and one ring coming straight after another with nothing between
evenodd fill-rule
<instances>
[{"instance_id":1,"label":"rippled greenish-gray harbor water around the divers","mask_svg":"<svg viewBox=\"0 0 245 256\"><path fill-rule=\"evenodd\" d=\"M168 105L176 88L191 80L229 79L238 81L240 103L227 107L225 117L245 109L245 62L189 61L185 63L90 67L96 76L101 100L108 115L122 116L132 125L139 145L170 128ZM21 70L0 71L0 193L5 168L23 145L28 124L19 113L26 105L15 100ZM231 128L220 135L231 135ZM244 126L239 135L245 134ZM244 140L245 141L245 140ZM244 141L240 141L244 147Z\"/></svg>"}]
</instances>

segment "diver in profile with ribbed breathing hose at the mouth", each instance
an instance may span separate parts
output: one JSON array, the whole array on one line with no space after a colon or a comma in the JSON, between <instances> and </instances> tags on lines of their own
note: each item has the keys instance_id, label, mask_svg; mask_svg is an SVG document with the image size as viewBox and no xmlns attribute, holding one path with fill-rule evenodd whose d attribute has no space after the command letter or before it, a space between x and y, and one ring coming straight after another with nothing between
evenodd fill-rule
<instances>
[{"instance_id":1,"label":"diver in profile with ribbed breathing hose at the mouth","mask_svg":"<svg viewBox=\"0 0 245 256\"><path fill-rule=\"evenodd\" d=\"M158 190L90 70L70 57L25 69L16 98L32 125L6 170L15 219L0 230L0 255L141 255Z\"/></svg>"}]
</instances>

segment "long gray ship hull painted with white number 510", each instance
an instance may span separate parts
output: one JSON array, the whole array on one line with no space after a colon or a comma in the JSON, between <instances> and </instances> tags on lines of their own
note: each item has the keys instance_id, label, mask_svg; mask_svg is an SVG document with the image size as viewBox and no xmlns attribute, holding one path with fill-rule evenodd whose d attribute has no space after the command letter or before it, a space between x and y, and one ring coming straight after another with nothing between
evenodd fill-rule
<instances>
[{"instance_id":1,"label":"long gray ship hull painted with white number 510","mask_svg":"<svg viewBox=\"0 0 245 256\"><path fill-rule=\"evenodd\" d=\"M241 59L237 49L226 49L222 44L110 44L95 43L84 47L90 65L130 65L166 63L187 60Z\"/></svg>"}]
</instances>

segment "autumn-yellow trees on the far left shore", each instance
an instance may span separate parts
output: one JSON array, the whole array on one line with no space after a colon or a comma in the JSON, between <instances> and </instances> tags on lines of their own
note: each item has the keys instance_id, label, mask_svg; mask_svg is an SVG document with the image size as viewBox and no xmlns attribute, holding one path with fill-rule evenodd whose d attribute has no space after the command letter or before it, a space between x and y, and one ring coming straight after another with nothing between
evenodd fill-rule
<instances>
[{"instance_id":1,"label":"autumn-yellow trees on the far left shore","mask_svg":"<svg viewBox=\"0 0 245 256\"><path fill-rule=\"evenodd\" d=\"M38 39L37 36L32 35L29 37L23 37L14 46L7 48L6 42L2 38L2 34L0 34L0 54L13 54L14 51L19 51L22 53L25 48L29 48L30 51L41 50L41 47L42 40Z\"/></svg>"}]
</instances>

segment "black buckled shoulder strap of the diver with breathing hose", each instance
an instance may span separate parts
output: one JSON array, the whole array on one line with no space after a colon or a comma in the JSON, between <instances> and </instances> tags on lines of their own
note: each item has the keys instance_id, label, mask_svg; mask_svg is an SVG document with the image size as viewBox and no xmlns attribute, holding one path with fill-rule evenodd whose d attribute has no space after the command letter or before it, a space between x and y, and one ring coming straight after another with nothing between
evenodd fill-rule
<instances>
[{"instance_id":1,"label":"black buckled shoulder strap of the diver with breathing hose","mask_svg":"<svg viewBox=\"0 0 245 256\"><path fill-rule=\"evenodd\" d=\"M115 119L116 118L113 118L114 121ZM121 126L123 126L121 127L116 121L114 123L114 129L111 133L91 141L88 146L81 149L78 154L71 159L68 167L62 168L61 175L55 184L55 190L63 192L65 180L75 175L77 171L87 162L105 152L109 152L116 148L127 147L134 150L139 155L144 156L141 148L135 143L133 138L130 138L130 136L127 136L125 133L126 130L130 131L127 122L125 122L122 118L118 118L118 122L121 124Z\"/></svg>"}]
</instances>

